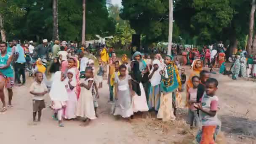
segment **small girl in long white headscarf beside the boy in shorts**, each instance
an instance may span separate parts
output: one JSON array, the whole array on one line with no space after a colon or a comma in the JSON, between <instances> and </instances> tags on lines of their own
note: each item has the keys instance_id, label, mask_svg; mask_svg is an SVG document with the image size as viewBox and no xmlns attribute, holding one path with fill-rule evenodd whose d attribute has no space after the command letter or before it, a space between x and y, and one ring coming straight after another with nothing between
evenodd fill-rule
<instances>
[{"instance_id":1,"label":"small girl in long white headscarf beside the boy in shorts","mask_svg":"<svg viewBox=\"0 0 256 144\"><path fill-rule=\"evenodd\" d=\"M62 118L64 117L64 107L68 101L68 94L66 87L67 80L65 80L63 72L57 71L53 77L53 84L49 92L51 98L51 108L54 110L53 118L59 120L59 126L63 127ZM58 116L58 117L57 117Z\"/></svg>"}]
</instances>

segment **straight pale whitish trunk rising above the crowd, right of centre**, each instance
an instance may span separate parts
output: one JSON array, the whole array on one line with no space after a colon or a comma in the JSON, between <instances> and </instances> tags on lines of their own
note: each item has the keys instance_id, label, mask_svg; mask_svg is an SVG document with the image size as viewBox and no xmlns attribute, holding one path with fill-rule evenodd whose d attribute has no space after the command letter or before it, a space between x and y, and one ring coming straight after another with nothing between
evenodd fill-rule
<instances>
[{"instance_id":1,"label":"straight pale whitish trunk rising above the crowd, right of centre","mask_svg":"<svg viewBox=\"0 0 256 144\"><path fill-rule=\"evenodd\" d=\"M173 37L173 0L169 0L168 55L171 55L172 37Z\"/></svg>"}]
</instances>

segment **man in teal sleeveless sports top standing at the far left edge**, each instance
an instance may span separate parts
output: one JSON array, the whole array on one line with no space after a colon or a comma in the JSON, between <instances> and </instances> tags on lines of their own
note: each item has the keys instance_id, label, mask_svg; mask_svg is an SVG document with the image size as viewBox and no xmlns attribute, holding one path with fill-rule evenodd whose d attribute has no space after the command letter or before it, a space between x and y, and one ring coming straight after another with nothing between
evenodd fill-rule
<instances>
[{"instance_id":1,"label":"man in teal sleeveless sports top standing at the far left edge","mask_svg":"<svg viewBox=\"0 0 256 144\"><path fill-rule=\"evenodd\" d=\"M0 99L3 103L2 112L5 112L5 95L4 95L4 87L8 90L8 107L13 107L11 105L11 100L13 97L13 68L11 66L11 61L13 59L12 53L7 53L7 43L0 43Z\"/></svg>"}]
</instances>

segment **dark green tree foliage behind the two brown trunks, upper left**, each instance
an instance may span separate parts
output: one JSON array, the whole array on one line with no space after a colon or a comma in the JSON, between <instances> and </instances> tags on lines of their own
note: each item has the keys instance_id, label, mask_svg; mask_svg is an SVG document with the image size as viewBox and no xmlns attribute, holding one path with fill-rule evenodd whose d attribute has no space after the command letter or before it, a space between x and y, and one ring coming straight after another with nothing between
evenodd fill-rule
<instances>
[{"instance_id":1,"label":"dark green tree foliage behind the two brown trunks, upper left","mask_svg":"<svg viewBox=\"0 0 256 144\"><path fill-rule=\"evenodd\" d=\"M40 41L52 37L52 0L8 0L24 11L20 17L8 16L5 21L8 40ZM11 11L12 12L12 11ZM59 36L61 40L81 39L83 8L81 0L58 0ZM19 13L19 12L16 12ZM11 25L10 25L11 24ZM95 35L105 37L115 32L115 22L109 17L105 0L86 0L86 40Z\"/></svg>"}]
</instances>

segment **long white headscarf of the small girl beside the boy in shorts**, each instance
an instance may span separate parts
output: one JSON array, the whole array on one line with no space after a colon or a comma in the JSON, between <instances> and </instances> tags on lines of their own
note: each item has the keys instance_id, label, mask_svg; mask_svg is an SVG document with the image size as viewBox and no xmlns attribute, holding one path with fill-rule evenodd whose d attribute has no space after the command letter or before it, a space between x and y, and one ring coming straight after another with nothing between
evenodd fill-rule
<instances>
[{"instance_id":1,"label":"long white headscarf of the small girl beside the boy in shorts","mask_svg":"<svg viewBox=\"0 0 256 144\"><path fill-rule=\"evenodd\" d=\"M67 89L65 85L67 85L67 80L61 81L61 71L57 71L53 77L53 84L51 85L51 90L49 92L49 96L51 101L67 101Z\"/></svg>"}]
</instances>

